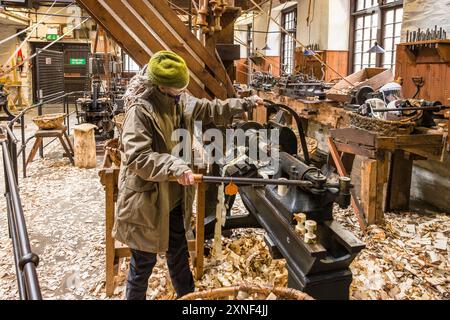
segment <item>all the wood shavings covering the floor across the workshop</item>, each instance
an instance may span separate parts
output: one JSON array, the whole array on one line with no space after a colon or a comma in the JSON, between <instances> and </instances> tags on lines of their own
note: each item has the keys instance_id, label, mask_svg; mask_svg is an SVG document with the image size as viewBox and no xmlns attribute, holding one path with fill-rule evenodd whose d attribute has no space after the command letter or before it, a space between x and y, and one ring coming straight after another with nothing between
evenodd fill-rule
<instances>
[{"instance_id":1,"label":"all the wood shavings covering the floor across the workshop","mask_svg":"<svg viewBox=\"0 0 450 320\"><path fill-rule=\"evenodd\" d=\"M73 168L67 160L37 160L21 195L46 299L108 299L104 272L104 190L97 170ZM0 210L6 212L3 197ZM244 213L242 202L233 208ZM386 224L363 235L351 209L335 217L367 243L352 264L352 299L448 299L450 292L450 218L415 213L386 214ZM0 299L17 299L11 241L6 215L0 216ZM205 259L198 290L236 285L287 285L283 260L273 260L262 230L235 230L223 239L223 258ZM127 264L112 299L123 299ZM164 257L149 281L148 299L175 299Z\"/></svg>"}]
</instances>

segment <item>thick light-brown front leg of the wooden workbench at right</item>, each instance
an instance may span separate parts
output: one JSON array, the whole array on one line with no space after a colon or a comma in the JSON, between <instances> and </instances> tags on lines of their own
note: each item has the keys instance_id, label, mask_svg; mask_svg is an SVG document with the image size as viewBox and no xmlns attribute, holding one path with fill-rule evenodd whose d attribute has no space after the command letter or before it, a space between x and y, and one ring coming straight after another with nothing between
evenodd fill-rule
<instances>
[{"instance_id":1,"label":"thick light-brown front leg of the wooden workbench at right","mask_svg":"<svg viewBox=\"0 0 450 320\"><path fill-rule=\"evenodd\" d=\"M389 162L385 153L381 160L365 160L361 168L361 200L367 223L381 224L384 220Z\"/></svg>"}]
</instances>

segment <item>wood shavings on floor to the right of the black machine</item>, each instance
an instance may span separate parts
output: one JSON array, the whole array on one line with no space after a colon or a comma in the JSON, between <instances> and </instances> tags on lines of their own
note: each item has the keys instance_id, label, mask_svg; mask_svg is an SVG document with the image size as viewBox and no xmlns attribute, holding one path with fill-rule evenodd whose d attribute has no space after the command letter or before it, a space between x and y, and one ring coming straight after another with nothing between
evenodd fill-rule
<instances>
[{"instance_id":1,"label":"wood shavings on floor to the right of the black machine","mask_svg":"<svg viewBox=\"0 0 450 320\"><path fill-rule=\"evenodd\" d=\"M383 226L363 235L352 210L335 217L367 248L353 262L353 299L435 300L450 298L450 217L387 213Z\"/></svg>"}]
</instances>

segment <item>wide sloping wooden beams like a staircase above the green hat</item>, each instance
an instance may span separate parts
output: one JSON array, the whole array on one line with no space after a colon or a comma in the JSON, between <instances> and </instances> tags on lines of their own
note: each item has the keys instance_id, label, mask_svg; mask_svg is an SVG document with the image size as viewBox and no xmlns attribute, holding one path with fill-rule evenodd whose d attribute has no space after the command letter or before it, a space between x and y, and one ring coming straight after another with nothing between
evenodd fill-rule
<instances>
[{"instance_id":1,"label":"wide sloping wooden beams like a staircase above the green hat","mask_svg":"<svg viewBox=\"0 0 450 320\"><path fill-rule=\"evenodd\" d=\"M234 95L230 78L216 52L210 52L167 0L77 0L141 67L160 50L183 57L191 71L188 90L198 98Z\"/></svg>"}]
</instances>

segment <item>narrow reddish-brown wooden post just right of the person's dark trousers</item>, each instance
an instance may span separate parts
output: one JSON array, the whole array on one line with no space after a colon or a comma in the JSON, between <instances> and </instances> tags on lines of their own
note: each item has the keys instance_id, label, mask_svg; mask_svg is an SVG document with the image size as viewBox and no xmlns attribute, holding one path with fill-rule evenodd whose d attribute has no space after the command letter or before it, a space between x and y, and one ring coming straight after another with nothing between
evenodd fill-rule
<instances>
[{"instance_id":1,"label":"narrow reddish-brown wooden post just right of the person's dark trousers","mask_svg":"<svg viewBox=\"0 0 450 320\"><path fill-rule=\"evenodd\" d=\"M205 184L199 183L197 189L197 219L195 237L195 277L200 280L203 277L203 261L205 255Z\"/></svg>"}]
</instances>

